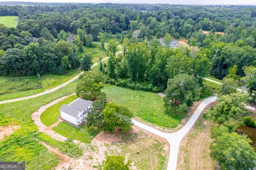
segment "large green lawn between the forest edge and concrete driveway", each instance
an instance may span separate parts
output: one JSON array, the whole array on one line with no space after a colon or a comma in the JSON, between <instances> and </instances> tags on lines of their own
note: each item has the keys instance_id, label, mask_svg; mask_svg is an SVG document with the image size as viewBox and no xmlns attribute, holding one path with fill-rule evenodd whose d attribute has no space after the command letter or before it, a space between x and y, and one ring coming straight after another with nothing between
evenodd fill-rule
<instances>
[{"instance_id":1,"label":"large green lawn between the forest edge and concrete driveway","mask_svg":"<svg viewBox=\"0 0 256 170\"><path fill-rule=\"evenodd\" d=\"M105 85L102 91L111 102L129 107L136 116L156 125L172 128L180 124L182 119L178 116L174 118L165 112L164 101L157 93L135 91L114 85Z\"/></svg>"}]
</instances>

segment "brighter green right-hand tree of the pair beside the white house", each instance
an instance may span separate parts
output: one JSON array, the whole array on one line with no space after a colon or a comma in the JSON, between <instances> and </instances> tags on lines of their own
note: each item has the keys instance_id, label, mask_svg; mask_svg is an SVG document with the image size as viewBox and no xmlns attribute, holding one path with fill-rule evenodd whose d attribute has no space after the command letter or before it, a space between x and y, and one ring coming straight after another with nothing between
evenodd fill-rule
<instances>
[{"instance_id":1,"label":"brighter green right-hand tree of the pair beside the white house","mask_svg":"<svg viewBox=\"0 0 256 170\"><path fill-rule=\"evenodd\" d=\"M120 127L122 132L132 129L132 117L134 114L125 106L118 106L115 103L107 103L104 111L105 132L114 132L116 127Z\"/></svg>"}]
</instances>

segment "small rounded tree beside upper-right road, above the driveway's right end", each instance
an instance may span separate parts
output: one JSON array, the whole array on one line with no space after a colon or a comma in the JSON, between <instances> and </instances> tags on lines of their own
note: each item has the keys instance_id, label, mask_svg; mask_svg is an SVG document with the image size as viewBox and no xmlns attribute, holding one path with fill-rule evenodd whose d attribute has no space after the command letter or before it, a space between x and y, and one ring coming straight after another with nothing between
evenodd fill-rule
<instances>
[{"instance_id":1,"label":"small rounded tree beside upper-right road, above the driveway's right end","mask_svg":"<svg viewBox=\"0 0 256 170\"><path fill-rule=\"evenodd\" d=\"M228 95L236 92L236 82L232 78L224 77L220 88L221 95Z\"/></svg>"}]
</instances>

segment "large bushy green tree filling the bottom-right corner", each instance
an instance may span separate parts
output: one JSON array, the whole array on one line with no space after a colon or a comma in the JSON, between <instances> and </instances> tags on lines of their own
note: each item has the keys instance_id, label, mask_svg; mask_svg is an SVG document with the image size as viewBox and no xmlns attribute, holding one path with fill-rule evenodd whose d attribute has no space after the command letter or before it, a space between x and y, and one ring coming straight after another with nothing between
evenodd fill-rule
<instances>
[{"instance_id":1,"label":"large bushy green tree filling the bottom-right corner","mask_svg":"<svg viewBox=\"0 0 256 170\"><path fill-rule=\"evenodd\" d=\"M250 146L251 142L246 135L226 132L217 136L210 145L210 155L219 162L222 170L253 169L256 153Z\"/></svg>"}]
</instances>

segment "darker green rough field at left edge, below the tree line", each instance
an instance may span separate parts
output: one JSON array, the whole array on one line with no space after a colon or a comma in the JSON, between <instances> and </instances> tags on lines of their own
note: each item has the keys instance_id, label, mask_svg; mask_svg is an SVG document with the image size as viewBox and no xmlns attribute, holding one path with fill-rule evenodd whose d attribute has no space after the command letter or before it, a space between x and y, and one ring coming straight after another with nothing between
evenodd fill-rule
<instances>
[{"instance_id":1,"label":"darker green rough field at left edge, below the tree line","mask_svg":"<svg viewBox=\"0 0 256 170\"><path fill-rule=\"evenodd\" d=\"M29 77L0 77L0 95L40 88L41 82L38 75Z\"/></svg>"}]
</instances>

